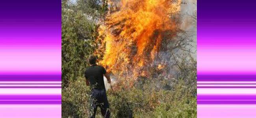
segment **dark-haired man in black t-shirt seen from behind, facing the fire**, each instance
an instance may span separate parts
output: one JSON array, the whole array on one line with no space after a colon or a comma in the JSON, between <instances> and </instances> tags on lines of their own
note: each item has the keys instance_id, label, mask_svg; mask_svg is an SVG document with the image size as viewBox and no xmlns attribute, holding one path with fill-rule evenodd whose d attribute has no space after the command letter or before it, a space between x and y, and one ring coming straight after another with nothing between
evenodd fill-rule
<instances>
[{"instance_id":1,"label":"dark-haired man in black t-shirt seen from behind, facing the fire","mask_svg":"<svg viewBox=\"0 0 256 118\"><path fill-rule=\"evenodd\" d=\"M104 118L109 118L109 103L104 86L105 76L108 83L111 83L110 77L103 66L96 65L96 56L89 56L90 67L85 70L86 85L91 86L91 118L95 118L97 108L100 107L100 111Z\"/></svg>"}]
</instances>

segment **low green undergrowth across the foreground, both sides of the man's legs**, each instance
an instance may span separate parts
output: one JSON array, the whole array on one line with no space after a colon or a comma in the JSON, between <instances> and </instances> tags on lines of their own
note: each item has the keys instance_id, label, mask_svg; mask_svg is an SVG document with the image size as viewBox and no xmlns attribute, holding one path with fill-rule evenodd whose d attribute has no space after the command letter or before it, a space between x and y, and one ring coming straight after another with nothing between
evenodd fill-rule
<instances>
[{"instance_id":1,"label":"low green undergrowth across the foreground, both sides of the man's legs","mask_svg":"<svg viewBox=\"0 0 256 118\"><path fill-rule=\"evenodd\" d=\"M189 69L196 62L177 63ZM126 88L123 85L119 89L108 90L108 101L110 104L111 116L113 118L129 117L196 117L197 116L197 96L196 89L191 87L190 82L196 82L196 70L180 71L180 79L165 78L142 78L143 82L134 83L134 87ZM191 77L191 78L190 78ZM186 79L191 79L187 81ZM195 85L193 85L195 86ZM83 78L71 83L63 90L63 118L77 116L79 118L88 117L89 108L89 87L85 86ZM99 111L99 110L98 110ZM97 113L100 116L100 112ZM76 118L76 117L74 117Z\"/></svg>"}]
</instances>

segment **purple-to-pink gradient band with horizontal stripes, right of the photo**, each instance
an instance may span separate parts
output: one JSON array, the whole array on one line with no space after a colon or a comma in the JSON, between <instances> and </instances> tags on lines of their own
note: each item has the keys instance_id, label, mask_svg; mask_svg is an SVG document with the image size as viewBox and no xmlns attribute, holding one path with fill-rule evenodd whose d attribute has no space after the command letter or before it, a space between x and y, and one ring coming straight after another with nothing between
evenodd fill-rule
<instances>
[{"instance_id":1,"label":"purple-to-pink gradient band with horizontal stripes, right of the photo","mask_svg":"<svg viewBox=\"0 0 256 118\"><path fill-rule=\"evenodd\" d=\"M256 2L197 5L198 118L255 118Z\"/></svg>"}]
</instances>

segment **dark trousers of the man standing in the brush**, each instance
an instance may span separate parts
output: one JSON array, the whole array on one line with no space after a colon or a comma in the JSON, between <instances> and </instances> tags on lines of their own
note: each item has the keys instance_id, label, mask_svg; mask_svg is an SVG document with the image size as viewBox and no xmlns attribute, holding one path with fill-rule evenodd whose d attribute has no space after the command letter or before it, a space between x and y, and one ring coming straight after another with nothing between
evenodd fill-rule
<instances>
[{"instance_id":1,"label":"dark trousers of the man standing in the brush","mask_svg":"<svg viewBox=\"0 0 256 118\"><path fill-rule=\"evenodd\" d=\"M108 98L105 89L93 89L91 92L91 118L95 118L97 108L104 118L110 117Z\"/></svg>"}]
</instances>

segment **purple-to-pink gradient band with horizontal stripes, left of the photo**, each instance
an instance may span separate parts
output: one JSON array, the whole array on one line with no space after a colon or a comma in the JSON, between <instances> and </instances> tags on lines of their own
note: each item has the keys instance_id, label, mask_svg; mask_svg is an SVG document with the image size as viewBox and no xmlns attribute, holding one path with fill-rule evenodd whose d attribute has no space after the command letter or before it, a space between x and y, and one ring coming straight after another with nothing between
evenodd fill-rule
<instances>
[{"instance_id":1,"label":"purple-to-pink gradient band with horizontal stripes, left of the photo","mask_svg":"<svg viewBox=\"0 0 256 118\"><path fill-rule=\"evenodd\" d=\"M0 117L61 118L61 0L5 0L0 14Z\"/></svg>"}]
</instances>

